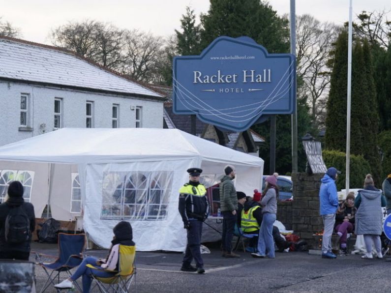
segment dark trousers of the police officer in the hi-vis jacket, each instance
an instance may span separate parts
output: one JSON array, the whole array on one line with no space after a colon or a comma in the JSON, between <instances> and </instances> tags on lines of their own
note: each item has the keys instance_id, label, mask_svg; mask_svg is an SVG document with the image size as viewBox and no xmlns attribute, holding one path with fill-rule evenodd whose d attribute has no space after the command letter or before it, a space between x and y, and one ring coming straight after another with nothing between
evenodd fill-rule
<instances>
[{"instance_id":1,"label":"dark trousers of the police officer in the hi-vis jacket","mask_svg":"<svg viewBox=\"0 0 391 293\"><path fill-rule=\"evenodd\" d=\"M204 267L201 257L202 222L190 219L190 228L187 229L187 245L183 257L183 266L189 266L194 259L196 267Z\"/></svg>"}]
</instances>

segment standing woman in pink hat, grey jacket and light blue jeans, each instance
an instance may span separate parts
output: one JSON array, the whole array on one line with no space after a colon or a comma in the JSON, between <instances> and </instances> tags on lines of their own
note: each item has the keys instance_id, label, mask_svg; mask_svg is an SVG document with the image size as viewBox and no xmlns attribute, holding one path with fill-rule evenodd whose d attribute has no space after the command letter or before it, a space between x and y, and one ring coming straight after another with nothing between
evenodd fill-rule
<instances>
[{"instance_id":1,"label":"standing woman in pink hat, grey jacket and light blue jeans","mask_svg":"<svg viewBox=\"0 0 391 293\"><path fill-rule=\"evenodd\" d=\"M274 175L268 176L266 179L266 187L263 191L261 200L262 205L262 223L259 229L258 252L252 253L254 258L268 257L275 258L274 239L273 239L273 223L277 215L277 198L278 187L277 178Z\"/></svg>"}]
</instances>

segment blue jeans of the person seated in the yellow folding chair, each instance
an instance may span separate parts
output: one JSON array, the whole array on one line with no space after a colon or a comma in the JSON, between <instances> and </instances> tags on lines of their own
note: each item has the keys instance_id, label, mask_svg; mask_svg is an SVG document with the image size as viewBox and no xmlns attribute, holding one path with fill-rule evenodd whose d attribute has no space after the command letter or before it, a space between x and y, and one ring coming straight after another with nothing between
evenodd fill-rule
<instances>
[{"instance_id":1,"label":"blue jeans of the person seated in the yellow folding chair","mask_svg":"<svg viewBox=\"0 0 391 293\"><path fill-rule=\"evenodd\" d=\"M79 279L81 276L83 276L83 293L89 293L92 283L91 275L107 278L112 277L115 275L115 273L102 271L99 269L93 269L87 267L87 264L92 264L96 267L99 267L99 265L96 264L96 261L98 259L94 257L86 257L83 262L79 265L79 267L76 269L76 271L73 273L73 275L70 277L72 281L75 281Z\"/></svg>"}]
</instances>

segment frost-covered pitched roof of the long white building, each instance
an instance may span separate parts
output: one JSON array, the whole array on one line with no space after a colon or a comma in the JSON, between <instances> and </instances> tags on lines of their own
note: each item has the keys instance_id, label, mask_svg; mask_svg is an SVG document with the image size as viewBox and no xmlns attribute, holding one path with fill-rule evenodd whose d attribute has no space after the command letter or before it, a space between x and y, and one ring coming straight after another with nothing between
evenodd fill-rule
<instances>
[{"instance_id":1,"label":"frost-covered pitched roof of the long white building","mask_svg":"<svg viewBox=\"0 0 391 293\"><path fill-rule=\"evenodd\" d=\"M106 67L63 48L0 37L0 79L165 100Z\"/></svg>"}]
</instances>

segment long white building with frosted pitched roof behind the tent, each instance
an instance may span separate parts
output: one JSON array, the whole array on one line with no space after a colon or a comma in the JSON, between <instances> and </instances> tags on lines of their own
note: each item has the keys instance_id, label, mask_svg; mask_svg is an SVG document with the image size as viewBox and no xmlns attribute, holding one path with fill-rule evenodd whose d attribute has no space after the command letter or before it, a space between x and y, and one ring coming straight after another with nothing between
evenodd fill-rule
<instances>
[{"instance_id":1,"label":"long white building with frosted pitched roof behind the tent","mask_svg":"<svg viewBox=\"0 0 391 293\"><path fill-rule=\"evenodd\" d=\"M75 53L0 37L0 146L62 127L162 128L163 101Z\"/></svg>"}]
</instances>

